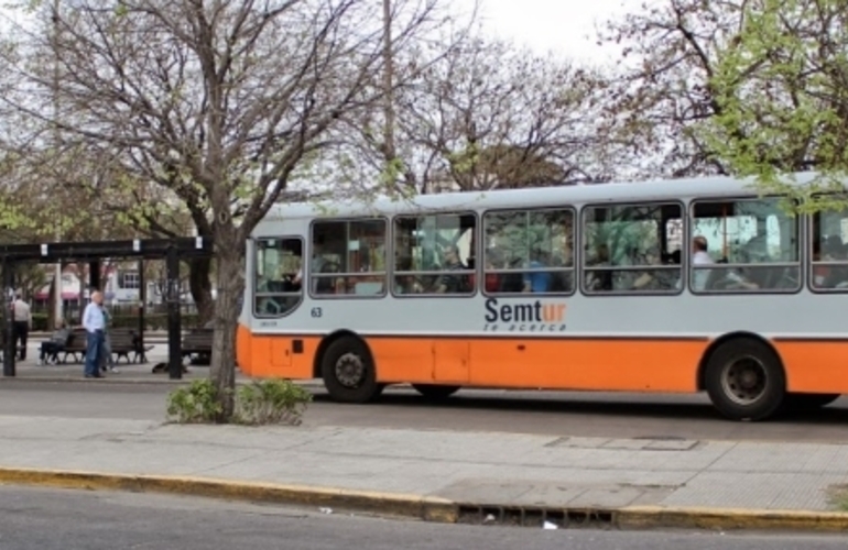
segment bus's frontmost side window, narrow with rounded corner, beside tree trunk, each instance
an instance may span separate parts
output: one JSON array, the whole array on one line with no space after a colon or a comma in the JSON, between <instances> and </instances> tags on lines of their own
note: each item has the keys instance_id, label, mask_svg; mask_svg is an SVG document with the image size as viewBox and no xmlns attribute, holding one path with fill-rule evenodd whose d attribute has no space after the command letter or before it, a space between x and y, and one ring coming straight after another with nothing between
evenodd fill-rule
<instances>
[{"instance_id":1,"label":"bus's frontmost side window, narrow with rounded corner, beside tree trunk","mask_svg":"<svg viewBox=\"0 0 848 550\"><path fill-rule=\"evenodd\" d=\"M298 283L303 241L297 238L262 238L254 241L253 315L282 317L303 299Z\"/></svg>"}]
</instances>

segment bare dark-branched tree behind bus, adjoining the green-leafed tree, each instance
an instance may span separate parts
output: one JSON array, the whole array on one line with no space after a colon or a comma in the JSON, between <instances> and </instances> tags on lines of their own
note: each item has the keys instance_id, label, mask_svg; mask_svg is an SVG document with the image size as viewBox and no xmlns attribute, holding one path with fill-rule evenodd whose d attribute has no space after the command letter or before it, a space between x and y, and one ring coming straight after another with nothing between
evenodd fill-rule
<instances>
[{"instance_id":1,"label":"bare dark-branched tree behind bus, adjoining the green-leafed tree","mask_svg":"<svg viewBox=\"0 0 848 550\"><path fill-rule=\"evenodd\" d=\"M720 52L739 32L744 3L662 0L611 20L601 32L601 42L622 51L604 133L631 174L728 172L697 128L722 111L711 79Z\"/></svg>"}]
</instances>

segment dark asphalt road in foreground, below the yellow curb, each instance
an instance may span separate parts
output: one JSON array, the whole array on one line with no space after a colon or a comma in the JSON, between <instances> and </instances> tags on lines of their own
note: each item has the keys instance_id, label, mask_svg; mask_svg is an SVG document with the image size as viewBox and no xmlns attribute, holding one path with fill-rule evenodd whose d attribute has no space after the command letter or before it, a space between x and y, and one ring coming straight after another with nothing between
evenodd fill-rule
<instances>
[{"instance_id":1,"label":"dark asphalt road in foreground, below the yellow curb","mask_svg":"<svg viewBox=\"0 0 848 550\"><path fill-rule=\"evenodd\" d=\"M825 550L845 549L845 539L438 525L165 495L0 486L3 550L335 550L351 544L371 550Z\"/></svg>"}]
</instances>

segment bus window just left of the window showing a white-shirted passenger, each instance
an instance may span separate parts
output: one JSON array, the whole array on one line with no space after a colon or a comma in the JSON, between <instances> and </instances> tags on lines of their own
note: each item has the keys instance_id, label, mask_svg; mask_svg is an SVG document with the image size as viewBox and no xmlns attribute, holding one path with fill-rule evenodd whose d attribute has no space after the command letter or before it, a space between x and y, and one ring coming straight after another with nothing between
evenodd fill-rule
<instances>
[{"instance_id":1,"label":"bus window just left of the window showing a white-shirted passenger","mask_svg":"<svg viewBox=\"0 0 848 550\"><path fill-rule=\"evenodd\" d=\"M676 294L682 267L670 220L678 204L587 207L583 213L583 292Z\"/></svg>"}]
</instances>

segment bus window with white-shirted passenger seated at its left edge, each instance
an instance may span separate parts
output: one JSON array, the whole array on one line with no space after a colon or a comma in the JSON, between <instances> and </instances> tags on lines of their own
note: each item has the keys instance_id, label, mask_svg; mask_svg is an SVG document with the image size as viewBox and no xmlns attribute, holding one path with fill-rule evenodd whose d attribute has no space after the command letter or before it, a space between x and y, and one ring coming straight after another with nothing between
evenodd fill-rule
<instances>
[{"instance_id":1,"label":"bus window with white-shirted passenger seated at its left edge","mask_svg":"<svg viewBox=\"0 0 848 550\"><path fill-rule=\"evenodd\" d=\"M801 287L798 222L780 202L695 202L689 243L694 293L792 293Z\"/></svg>"}]
</instances>

